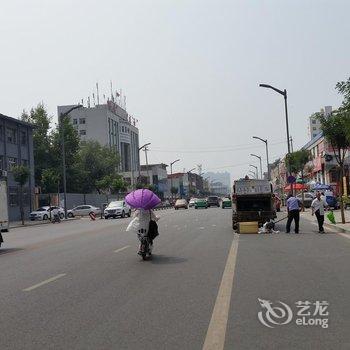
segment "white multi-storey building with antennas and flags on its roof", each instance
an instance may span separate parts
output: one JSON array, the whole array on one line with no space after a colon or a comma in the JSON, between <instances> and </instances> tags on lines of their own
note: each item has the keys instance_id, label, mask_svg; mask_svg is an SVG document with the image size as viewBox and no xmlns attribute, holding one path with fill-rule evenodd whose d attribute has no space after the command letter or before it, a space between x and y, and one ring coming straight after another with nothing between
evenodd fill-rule
<instances>
[{"instance_id":1,"label":"white multi-storey building with antennas and flags on its roof","mask_svg":"<svg viewBox=\"0 0 350 350\"><path fill-rule=\"evenodd\" d=\"M58 115L73 107L58 106ZM140 167L139 130L135 119L112 101L95 107L83 107L69 113L69 119L81 140L95 140L115 149L121 158L120 171L129 184L136 181Z\"/></svg>"}]
</instances>

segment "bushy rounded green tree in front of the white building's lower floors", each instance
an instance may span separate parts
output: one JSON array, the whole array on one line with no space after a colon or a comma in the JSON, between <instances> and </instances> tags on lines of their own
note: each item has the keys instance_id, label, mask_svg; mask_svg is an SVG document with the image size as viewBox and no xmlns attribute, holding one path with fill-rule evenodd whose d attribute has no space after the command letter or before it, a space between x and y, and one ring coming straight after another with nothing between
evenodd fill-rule
<instances>
[{"instance_id":1,"label":"bushy rounded green tree in front of the white building's lower floors","mask_svg":"<svg viewBox=\"0 0 350 350\"><path fill-rule=\"evenodd\" d=\"M117 152L97 141L84 141L80 145L74 170L81 178L85 193L101 193L111 186L111 179L116 179L120 158ZM106 178L111 176L111 178Z\"/></svg>"}]
</instances>

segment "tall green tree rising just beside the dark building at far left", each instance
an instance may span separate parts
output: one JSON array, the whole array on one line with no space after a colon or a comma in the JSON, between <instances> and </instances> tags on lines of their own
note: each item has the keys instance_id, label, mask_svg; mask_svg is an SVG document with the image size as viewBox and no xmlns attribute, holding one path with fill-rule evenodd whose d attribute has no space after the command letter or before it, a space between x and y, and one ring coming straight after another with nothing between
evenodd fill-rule
<instances>
[{"instance_id":1,"label":"tall green tree rising just beside the dark building at far left","mask_svg":"<svg viewBox=\"0 0 350 350\"><path fill-rule=\"evenodd\" d=\"M23 111L21 119L34 125L33 149L34 149L34 178L35 184L41 186L42 172L52 163L53 154L50 152L50 123L52 118L48 115L44 104L39 103L29 113Z\"/></svg>"}]
</instances>

